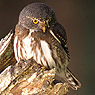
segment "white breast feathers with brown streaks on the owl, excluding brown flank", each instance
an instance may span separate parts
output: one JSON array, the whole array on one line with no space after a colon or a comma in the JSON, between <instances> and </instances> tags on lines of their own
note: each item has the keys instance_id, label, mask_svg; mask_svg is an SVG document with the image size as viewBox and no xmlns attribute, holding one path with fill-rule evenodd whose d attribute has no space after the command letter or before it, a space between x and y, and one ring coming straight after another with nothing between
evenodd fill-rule
<instances>
[{"instance_id":1,"label":"white breast feathers with brown streaks on the owl, excluding brown flank","mask_svg":"<svg viewBox=\"0 0 95 95\"><path fill-rule=\"evenodd\" d=\"M25 37L22 41L18 40L16 36L14 39L14 51L15 51L15 58L17 61L20 59L31 59L37 61L37 63L52 68L55 66L55 61L52 56L52 51L49 48L49 44L43 40L39 43L35 42L30 37L30 33L27 37ZM36 44L36 47L34 47ZM22 58L23 57L23 58Z\"/></svg>"}]
</instances>

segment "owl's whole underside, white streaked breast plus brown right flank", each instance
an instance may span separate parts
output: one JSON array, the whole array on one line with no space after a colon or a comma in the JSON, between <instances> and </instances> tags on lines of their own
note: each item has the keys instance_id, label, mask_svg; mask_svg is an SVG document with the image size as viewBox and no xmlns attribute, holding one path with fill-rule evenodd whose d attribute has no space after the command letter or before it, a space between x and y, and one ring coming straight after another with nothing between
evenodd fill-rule
<instances>
[{"instance_id":1,"label":"owl's whole underside, white streaked breast plus brown right flank","mask_svg":"<svg viewBox=\"0 0 95 95\"><path fill-rule=\"evenodd\" d=\"M22 40L19 40L18 36L15 37L14 50L17 61L33 58L48 68L59 68L68 63L66 52L52 35L32 32Z\"/></svg>"}]
</instances>

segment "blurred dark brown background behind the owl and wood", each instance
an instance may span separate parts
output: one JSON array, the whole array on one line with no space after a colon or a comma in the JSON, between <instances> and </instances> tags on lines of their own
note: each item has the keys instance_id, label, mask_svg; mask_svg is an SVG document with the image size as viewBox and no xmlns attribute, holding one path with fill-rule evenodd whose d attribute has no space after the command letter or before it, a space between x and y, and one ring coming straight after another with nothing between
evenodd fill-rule
<instances>
[{"instance_id":1,"label":"blurred dark brown background behind the owl and wood","mask_svg":"<svg viewBox=\"0 0 95 95\"><path fill-rule=\"evenodd\" d=\"M23 7L33 2L51 6L67 31L69 67L82 83L81 89L69 95L95 95L94 0L0 0L0 39L14 29Z\"/></svg>"}]
</instances>

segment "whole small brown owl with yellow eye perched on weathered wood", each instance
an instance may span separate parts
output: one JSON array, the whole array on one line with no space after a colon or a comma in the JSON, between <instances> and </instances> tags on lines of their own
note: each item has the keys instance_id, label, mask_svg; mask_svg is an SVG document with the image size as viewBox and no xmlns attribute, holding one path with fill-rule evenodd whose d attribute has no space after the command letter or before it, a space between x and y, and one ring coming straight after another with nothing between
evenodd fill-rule
<instances>
[{"instance_id":1,"label":"whole small brown owl with yellow eye perched on weathered wood","mask_svg":"<svg viewBox=\"0 0 95 95\"><path fill-rule=\"evenodd\" d=\"M67 65L69 54L64 27L58 23L55 12L43 3L32 3L20 13L14 37L15 58L33 58L47 69L56 69L58 80L65 80L71 88L80 88Z\"/></svg>"}]
</instances>

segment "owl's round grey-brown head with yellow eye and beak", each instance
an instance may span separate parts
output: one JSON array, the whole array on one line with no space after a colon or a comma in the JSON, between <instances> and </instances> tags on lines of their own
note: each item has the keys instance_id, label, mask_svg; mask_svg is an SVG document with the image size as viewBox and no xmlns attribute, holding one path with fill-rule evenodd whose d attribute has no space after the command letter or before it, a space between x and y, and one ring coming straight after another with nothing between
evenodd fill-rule
<instances>
[{"instance_id":1,"label":"owl's round grey-brown head with yellow eye and beak","mask_svg":"<svg viewBox=\"0 0 95 95\"><path fill-rule=\"evenodd\" d=\"M52 8L43 3L26 6L20 13L18 24L26 29L42 30L52 27L56 23L56 16Z\"/></svg>"}]
</instances>

